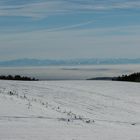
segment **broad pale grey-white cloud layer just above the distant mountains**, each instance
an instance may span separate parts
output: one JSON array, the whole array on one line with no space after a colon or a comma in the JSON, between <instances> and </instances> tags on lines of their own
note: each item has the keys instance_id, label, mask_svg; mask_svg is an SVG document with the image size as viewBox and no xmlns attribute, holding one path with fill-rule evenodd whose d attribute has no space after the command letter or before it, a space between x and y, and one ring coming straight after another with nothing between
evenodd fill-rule
<instances>
[{"instance_id":1,"label":"broad pale grey-white cloud layer just above the distant mountains","mask_svg":"<svg viewBox=\"0 0 140 140\"><path fill-rule=\"evenodd\" d=\"M139 57L139 35L140 26L9 34L0 38L0 58Z\"/></svg>"}]
</instances>

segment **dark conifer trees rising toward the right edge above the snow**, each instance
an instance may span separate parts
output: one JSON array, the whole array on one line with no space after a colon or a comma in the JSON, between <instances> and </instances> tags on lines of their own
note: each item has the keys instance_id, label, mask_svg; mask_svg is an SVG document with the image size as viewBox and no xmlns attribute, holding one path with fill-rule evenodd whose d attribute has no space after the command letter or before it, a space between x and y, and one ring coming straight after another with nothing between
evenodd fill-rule
<instances>
[{"instance_id":1,"label":"dark conifer trees rising toward the right edge above the snow","mask_svg":"<svg viewBox=\"0 0 140 140\"><path fill-rule=\"evenodd\" d=\"M133 73L130 75L122 75L113 80L117 81L130 81L130 82L140 82L140 72Z\"/></svg>"}]
</instances>

